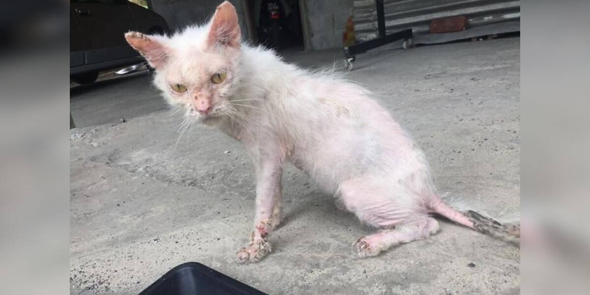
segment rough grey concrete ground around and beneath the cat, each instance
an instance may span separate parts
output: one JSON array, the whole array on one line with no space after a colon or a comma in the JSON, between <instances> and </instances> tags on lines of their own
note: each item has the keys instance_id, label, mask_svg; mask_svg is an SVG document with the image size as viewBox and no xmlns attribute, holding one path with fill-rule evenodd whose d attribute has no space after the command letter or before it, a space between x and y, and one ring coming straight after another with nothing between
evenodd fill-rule
<instances>
[{"instance_id":1,"label":"rough grey concrete ground around and beneath the cat","mask_svg":"<svg viewBox=\"0 0 590 295\"><path fill-rule=\"evenodd\" d=\"M414 135L441 191L492 214L517 212L519 47L507 38L376 51L359 55L348 77ZM334 55L288 59L318 67ZM239 265L254 215L253 169L240 143L194 126L177 145L182 118L147 74L71 91L74 120L87 126L70 138L71 293L136 294L187 261L268 294L520 291L518 248L448 221L428 240L356 258L352 243L372 230L290 165L273 253Z\"/></svg>"}]
</instances>

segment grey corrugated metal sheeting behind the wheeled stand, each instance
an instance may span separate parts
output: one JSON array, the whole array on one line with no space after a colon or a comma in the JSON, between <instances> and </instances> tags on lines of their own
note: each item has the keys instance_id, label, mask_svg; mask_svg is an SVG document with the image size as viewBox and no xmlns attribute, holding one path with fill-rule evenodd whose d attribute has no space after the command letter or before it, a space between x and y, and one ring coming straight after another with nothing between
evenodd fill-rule
<instances>
[{"instance_id":1,"label":"grey corrugated metal sheeting behind the wheeled stand","mask_svg":"<svg viewBox=\"0 0 590 295\"><path fill-rule=\"evenodd\" d=\"M388 34L407 28L412 28L415 35L428 34L432 19L460 15L467 17L468 28L520 21L520 1L355 0L353 21L358 41L377 37L375 1L383 1L385 6L385 27Z\"/></svg>"}]
</instances>

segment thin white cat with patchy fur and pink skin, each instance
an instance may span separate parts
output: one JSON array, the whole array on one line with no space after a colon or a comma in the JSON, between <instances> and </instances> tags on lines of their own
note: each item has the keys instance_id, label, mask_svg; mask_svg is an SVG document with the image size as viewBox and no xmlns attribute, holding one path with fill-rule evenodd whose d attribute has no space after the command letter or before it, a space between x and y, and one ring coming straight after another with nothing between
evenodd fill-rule
<instances>
[{"instance_id":1,"label":"thin white cat with patchy fur and pink skin","mask_svg":"<svg viewBox=\"0 0 590 295\"><path fill-rule=\"evenodd\" d=\"M254 230L250 244L238 251L241 263L260 261L271 251L267 237L280 222L285 161L380 229L356 240L360 256L430 237L439 229L432 213L519 240L520 225L460 213L442 202L424 153L368 90L243 44L230 2L219 5L208 24L172 37L128 32L125 38L156 69L154 84L169 103L240 140L253 159Z\"/></svg>"}]
</instances>

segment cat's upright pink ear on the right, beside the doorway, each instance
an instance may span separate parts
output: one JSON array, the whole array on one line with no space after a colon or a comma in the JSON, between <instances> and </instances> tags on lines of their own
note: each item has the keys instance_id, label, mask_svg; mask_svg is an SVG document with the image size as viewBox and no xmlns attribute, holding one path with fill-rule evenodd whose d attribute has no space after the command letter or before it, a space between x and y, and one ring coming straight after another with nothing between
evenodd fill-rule
<instances>
[{"instance_id":1,"label":"cat's upright pink ear on the right, beside the doorway","mask_svg":"<svg viewBox=\"0 0 590 295\"><path fill-rule=\"evenodd\" d=\"M240 24L234 5L225 1L217 6L211 19L211 28L207 43L209 46L223 45L233 48L240 47Z\"/></svg>"}]
</instances>

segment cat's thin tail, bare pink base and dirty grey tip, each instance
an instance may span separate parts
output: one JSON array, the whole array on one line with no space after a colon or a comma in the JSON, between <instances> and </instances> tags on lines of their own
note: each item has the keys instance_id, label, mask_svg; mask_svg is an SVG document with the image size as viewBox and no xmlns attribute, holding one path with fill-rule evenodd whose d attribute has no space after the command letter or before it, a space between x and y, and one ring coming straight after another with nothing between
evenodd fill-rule
<instances>
[{"instance_id":1,"label":"cat's thin tail, bare pink base and dirty grey tip","mask_svg":"<svg viewBox=\"0 0 590 295\"><path fill-rule=\"evenodd\" d=\"M431 209L458 224L520 247L520 222L500 222L486 214L470 209L460 212L443 202L440 196L435 196Z\"/></svg>"}]
</instances>

